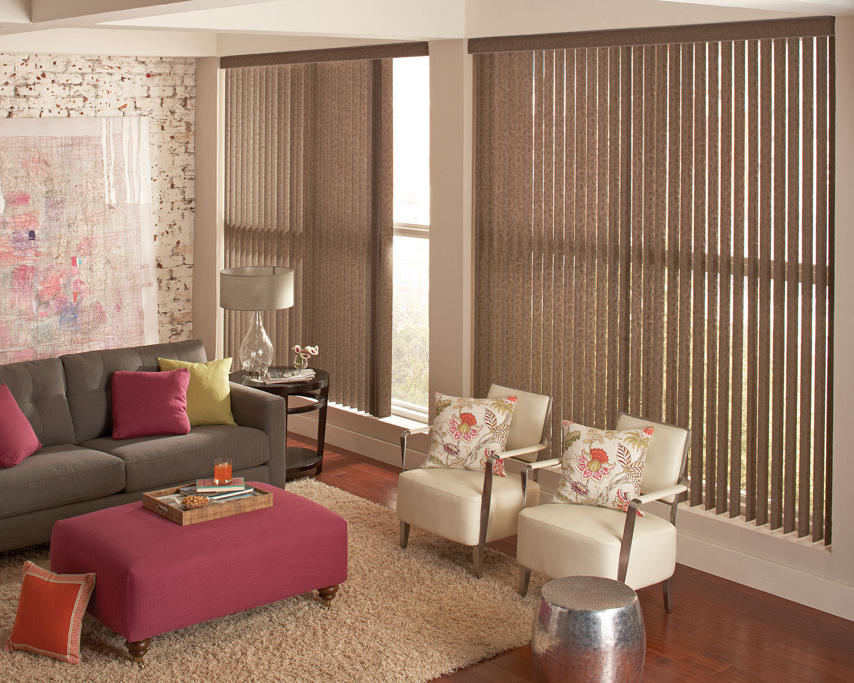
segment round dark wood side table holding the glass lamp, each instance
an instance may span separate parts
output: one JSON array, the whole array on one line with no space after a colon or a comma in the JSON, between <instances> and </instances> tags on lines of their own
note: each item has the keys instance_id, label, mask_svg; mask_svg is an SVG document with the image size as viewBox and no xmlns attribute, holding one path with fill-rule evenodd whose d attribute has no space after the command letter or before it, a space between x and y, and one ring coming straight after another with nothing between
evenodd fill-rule
<instances>
[{"instance_id":1,"label":"round dark wood side table holding the glass lamp","mask_svg":"<svg viewBox=\"0 0 854 683\"><path fill-rule=\"evenodd\" d=\"M292 370L288 366L272 367L270 370ZM276 394L284 399L284 442L286 448L285 465L288 476L299 475L306 470L317 468L317 474L323 471L323 447L326 438L326 407L329 403L329 373L325 370L314 371L314 377L307 382L285 382L282 384L264 384L254 382L242 370L229 375L231 382ZM307 406L289 405L290 396L299 396L311 401ZM318 416L318 448L288 447L288 416L300 412L320 411Z\"/></svg>"}]
</instances>

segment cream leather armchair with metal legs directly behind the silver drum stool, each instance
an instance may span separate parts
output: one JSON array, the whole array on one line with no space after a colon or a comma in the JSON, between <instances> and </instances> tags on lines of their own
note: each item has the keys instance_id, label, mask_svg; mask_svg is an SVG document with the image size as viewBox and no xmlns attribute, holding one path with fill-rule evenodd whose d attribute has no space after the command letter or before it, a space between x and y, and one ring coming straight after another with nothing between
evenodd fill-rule
<instances>
[{"instance_id":1,"label":"cream leather armchair with metal legs directly behind the silver drum stool","mask_svg":"<svg viewBox=\"0 0 854 683\"><path fill-rule=\"evenodd\" d=\"M691 430L621 413L617 429L655 427L646 449L640 495L628 512L594 505L547 503L519 514L516 557L519 593L528 593L530 573L552 578L571 575L605 576L638 588L662 583L664 609L670 611L670 587L676 569L676 506L687 491L684 479ZM523 484L530 471L557 467L560 458L525 465ZM670 521L640 505L652 500L670 503Z\"/></svg>"}]
</instances>

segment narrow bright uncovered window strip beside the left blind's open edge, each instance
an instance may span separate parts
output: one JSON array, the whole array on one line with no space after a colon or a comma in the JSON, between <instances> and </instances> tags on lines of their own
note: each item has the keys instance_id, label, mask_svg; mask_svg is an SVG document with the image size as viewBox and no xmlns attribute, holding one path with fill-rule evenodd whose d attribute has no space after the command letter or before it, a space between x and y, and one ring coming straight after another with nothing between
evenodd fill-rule
<instances>
[{"instance_id":1,"label":"narrow bright uncovered window strip beside the left blind's open edge","mask_svg":"<svg viewBox=\"0 0 854 683\"><path fill-rule=\"evenodd\" d=\"M394 61L395 291L391 406L427 417L430 344L430 60Z\"/></svg>"}]
</instances>

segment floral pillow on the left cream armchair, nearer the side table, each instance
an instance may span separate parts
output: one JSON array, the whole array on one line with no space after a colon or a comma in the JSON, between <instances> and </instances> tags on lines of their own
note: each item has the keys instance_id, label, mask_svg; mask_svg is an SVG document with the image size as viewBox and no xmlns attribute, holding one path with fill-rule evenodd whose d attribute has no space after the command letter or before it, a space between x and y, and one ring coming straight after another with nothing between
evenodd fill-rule
<instances>
[{"instance_id":1,"label":"floral pillow on the left cream armchair, nearer the side table","mask_svg":"<svg viewBox=\"0 0 854 683\"><path fill-rule=\"evenodd\" d=\"M486 470L486 458L504 452L516 396L459 399L436 392L436 417L427 462L422 467ZM500 460L493 474L507 476Z\"/></svg>"}]
</instances>

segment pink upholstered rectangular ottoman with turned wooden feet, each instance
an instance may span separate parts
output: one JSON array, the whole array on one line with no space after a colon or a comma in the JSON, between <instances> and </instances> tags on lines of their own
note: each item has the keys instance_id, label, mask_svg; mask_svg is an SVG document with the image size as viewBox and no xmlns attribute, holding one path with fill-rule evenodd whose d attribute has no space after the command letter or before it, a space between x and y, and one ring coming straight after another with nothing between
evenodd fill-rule
<instances>
[{"instance_id":1,"label":"pink upholstered rectangular ottoman with turned wooden feet","mask_svg":"<svg viewBox=\"0 0 854 683\"><path fill-rule=\"evenodd\" d=\"M250 482L254 483L254 482ZM182 527L119 505L56 522L50 569L95 572L89 612L142 663L149 639L176 628L347 581L347 522L269 484L272 507Z\"/></svg>"}]
</instances>

